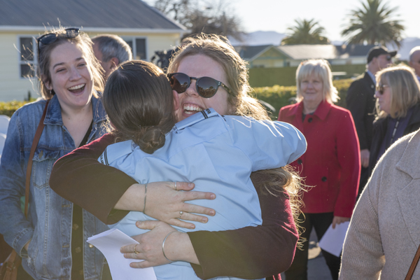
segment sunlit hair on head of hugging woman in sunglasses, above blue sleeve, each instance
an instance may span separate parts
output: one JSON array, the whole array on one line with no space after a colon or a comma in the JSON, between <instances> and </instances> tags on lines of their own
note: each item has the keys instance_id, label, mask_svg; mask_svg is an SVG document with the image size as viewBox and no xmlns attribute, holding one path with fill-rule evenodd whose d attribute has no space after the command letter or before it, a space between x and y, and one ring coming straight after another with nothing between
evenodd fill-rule
<instances>
[{"instance_id":1,"label":"sunlit hair on head of hugging woman in sunglasses, above blue sleeve","mask_svg":"<svg viewBox=\"0 0 420 280\"><path fill-rule=\"evenodd\" d=\"M251 116L257 120L270 119L260 102L251 97L247 62L241 59L227 38L214 34L200 34L186 38L169 62L168 73L177 72L182 59L192 55L205 55L222 66L228 81L227 86L233 92L228 94L230 115Z\"/></svg>"}]
</instances>

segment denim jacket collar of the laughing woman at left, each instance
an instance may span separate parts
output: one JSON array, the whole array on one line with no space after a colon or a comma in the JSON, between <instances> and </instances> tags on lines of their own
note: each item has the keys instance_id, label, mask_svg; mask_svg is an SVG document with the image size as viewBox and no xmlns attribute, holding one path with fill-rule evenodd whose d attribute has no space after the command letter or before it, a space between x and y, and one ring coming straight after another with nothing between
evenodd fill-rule
<instances>
[{"instance_id":1,"label":"denim jacket collar of the laughing woman at left","mask_svg":"<svg viewBox=\"0 0 420 280\"><path fill-rule=\"evenodd\" d=\"M97 95L99 96L99 98L94 97L94 95L92 96L93 123L95 124L100 123L106 119L106 112L100 100L100 97L102 97L102 94L100 92L97 92ZM44 124L45 125L63 125L61 106L59 105L57 95L54 95L50 99L47 113L45 115Z\"/></svg>"}]
</instances>

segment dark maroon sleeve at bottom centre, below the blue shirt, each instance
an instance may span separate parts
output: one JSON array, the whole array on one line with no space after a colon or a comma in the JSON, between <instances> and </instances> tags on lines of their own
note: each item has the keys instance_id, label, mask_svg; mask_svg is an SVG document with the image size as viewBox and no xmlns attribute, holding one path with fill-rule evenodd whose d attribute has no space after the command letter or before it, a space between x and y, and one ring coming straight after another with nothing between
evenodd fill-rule
<instances>
[{"instance_id":1,"label":"dark maroon sleeve at bottom centre, below the blue shirt","mask_svg":"<svg viewBox=\"0 0 420 280\"><path fill-rule=\"evenodd\" d=\"M298 235L288 195L262 195L258 183L262 176L254 172L251 179L260 199L262 225L188 232L201 264L192 266L201 279L217 276L258 279L280 274L290 267Z\"/></svg>"}]
</instances>

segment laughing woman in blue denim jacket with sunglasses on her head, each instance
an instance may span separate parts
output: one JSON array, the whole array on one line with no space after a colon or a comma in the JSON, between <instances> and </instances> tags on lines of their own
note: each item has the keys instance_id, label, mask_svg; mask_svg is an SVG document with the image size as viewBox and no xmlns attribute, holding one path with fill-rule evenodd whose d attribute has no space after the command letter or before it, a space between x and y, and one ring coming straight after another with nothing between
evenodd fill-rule
<instances>
[{"instance_id":1,"label":"laughing woman in blue denim jacket with sunglasses on her head","mask_svg":"<svg viewBox=\"0 0 420 280\"><path fill-rule=\"evenodd\" d=\"M104 85L100 66L92 41L78 29L53 30L37 43L43 98L10 119L0 167L0 232L34 279L100 279L104 257L85 238L103 232L106 225L48 185L57 159L102 136L106 114L99 101ZM25 218L20 197L25 195L29 152L44 109Z\"/></svg>"}]
</instances>

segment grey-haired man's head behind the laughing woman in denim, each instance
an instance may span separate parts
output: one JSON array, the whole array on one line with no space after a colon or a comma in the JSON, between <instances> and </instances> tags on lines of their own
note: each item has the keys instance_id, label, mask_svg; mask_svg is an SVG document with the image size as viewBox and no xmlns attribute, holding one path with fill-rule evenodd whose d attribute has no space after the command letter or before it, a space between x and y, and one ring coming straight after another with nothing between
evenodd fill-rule
<instances>
[{"instance_id":1,"label":"grey-haired man's head behind the laughing woman in denim","mask_svg":"<svg viewBox=\"0 0 420 280\"><path fill-rule=\"evenodd\" d=\"M127 60L132 60L132 50L122 38L111 34L102 34L92 38L94 43L94 56L99 60L104 68L104 78L108 78L109 73Z\"/></svg>"}]
</instances>

